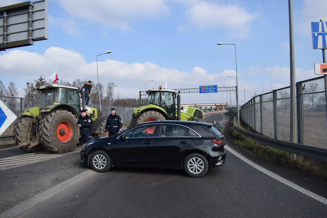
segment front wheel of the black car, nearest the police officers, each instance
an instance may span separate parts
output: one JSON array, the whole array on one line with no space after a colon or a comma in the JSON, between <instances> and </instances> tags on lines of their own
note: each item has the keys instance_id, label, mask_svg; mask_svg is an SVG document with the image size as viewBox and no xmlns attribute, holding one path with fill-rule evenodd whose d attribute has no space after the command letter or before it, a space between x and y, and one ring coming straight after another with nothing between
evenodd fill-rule
<instances>
[{"instance_id":1,"label":"front wheel of the black car, nearest the police officers","mask_svg":"<svg viewBox=\"0 0 327 218\"><path fill-rule=\"evenodd\" d=\"M96 172L107 172L111 168L111 158L107 152L97 150L91 154L90 165Z\"/></svg>"}]
</instances>

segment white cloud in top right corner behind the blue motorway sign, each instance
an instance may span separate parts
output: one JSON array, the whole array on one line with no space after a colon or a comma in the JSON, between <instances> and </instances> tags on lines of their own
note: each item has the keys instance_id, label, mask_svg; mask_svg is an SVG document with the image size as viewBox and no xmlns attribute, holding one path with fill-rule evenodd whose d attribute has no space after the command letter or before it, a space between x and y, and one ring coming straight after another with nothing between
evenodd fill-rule
<instances>
[{"instance_id":1,"label":"white cloud in top right corner behind the blue motorway sign","mask_svg":"<svg viewBox=\"0 0 327 218\"><path fill-rule=\"evenodd\" d=\"M326 0L303 0L301 10L301 21L296 25L296 30L304 36L311 36L311 22L327 21L327 1Z\"/></svg>"}]
</instances>

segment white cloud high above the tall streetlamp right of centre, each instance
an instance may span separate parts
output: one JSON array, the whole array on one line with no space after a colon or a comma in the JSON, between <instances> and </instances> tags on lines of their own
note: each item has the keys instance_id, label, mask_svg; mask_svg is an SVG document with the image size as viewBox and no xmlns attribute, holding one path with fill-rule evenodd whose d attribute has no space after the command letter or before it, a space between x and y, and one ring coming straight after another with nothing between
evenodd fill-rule
<instances>
[{"instance_id":1,"label":"white cloud high above the tall streetlamp right of centre","mask_svg":"<svg viewBox=\"0 0 327 218\"><path fill-rule=\"evenodd\" d=\"M200 29L227 28L235 37L248 36L250 22L258 18L258 13L247 12L238 4L223 5L203 0L183 2L187 5L186 17L190 25Z\"/></svg>"}]
</instances>

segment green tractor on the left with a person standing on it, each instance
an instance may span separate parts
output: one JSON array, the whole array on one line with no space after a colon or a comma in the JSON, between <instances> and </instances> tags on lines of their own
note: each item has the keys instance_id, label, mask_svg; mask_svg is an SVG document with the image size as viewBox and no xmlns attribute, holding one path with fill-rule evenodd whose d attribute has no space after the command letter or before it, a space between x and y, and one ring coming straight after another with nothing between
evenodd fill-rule
<instances>
[{"instance_id":1,"label":"green tractor on the left with a person standing on it","mask_svg":"<svg viewBox=\"0 0 327 218\"><path fill-rule=\"evenodd\" d=\"M26 152L40 152L47 148L54 153L72 151L79 143L79 128L76 126L81 110L79 89L51 84L38 86L39 107L20 111L22 115L14 125L14 140L18 148ZM105 136L107 117L96 108L85 108L82 92L82 108L92 117L92 136Z\"/></svg>"}]
</instances>

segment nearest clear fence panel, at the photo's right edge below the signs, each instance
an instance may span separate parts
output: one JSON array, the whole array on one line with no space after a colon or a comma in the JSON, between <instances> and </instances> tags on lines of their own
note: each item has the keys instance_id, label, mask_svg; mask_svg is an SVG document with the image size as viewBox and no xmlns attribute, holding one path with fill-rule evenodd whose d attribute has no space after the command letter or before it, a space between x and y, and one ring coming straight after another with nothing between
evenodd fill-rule
<instances>
[{"instance_id":1,"label":"nearest clear fence panel, at the photo's right edge below the signs","mask_svg":"<svg viewBox=\"0 0 327 218\"><path fill-rule=\"evenodd\" d=\"M327 121L324 79L301 83L304 144L327 149Z\"/></svg>"}]
</instances>

